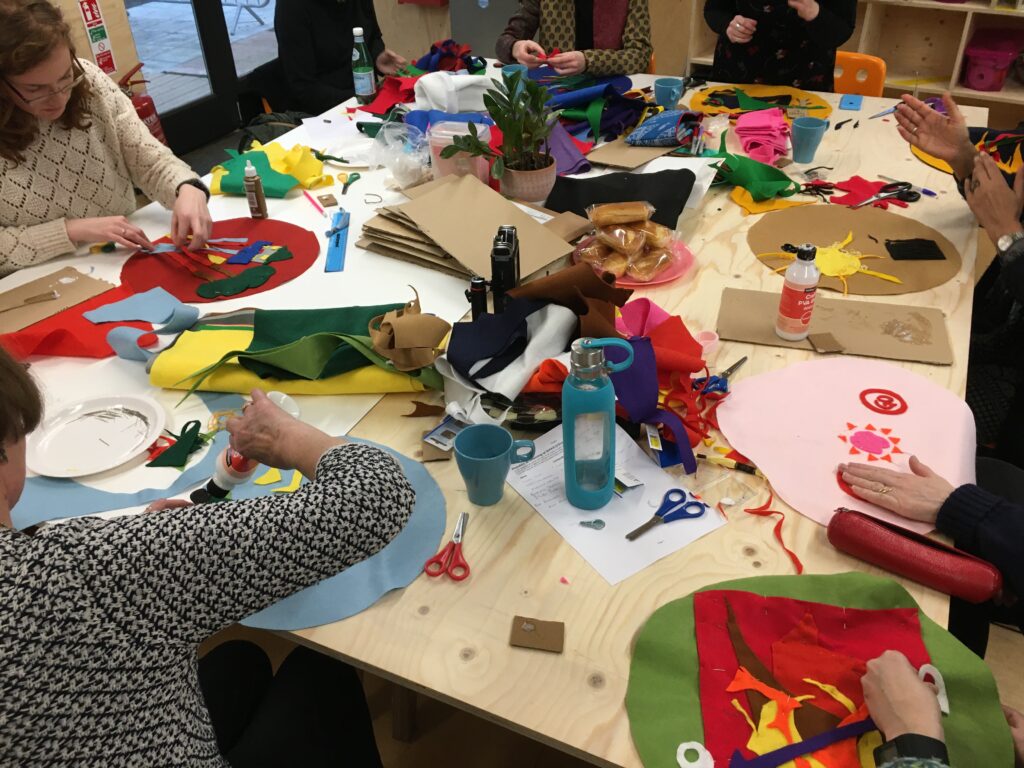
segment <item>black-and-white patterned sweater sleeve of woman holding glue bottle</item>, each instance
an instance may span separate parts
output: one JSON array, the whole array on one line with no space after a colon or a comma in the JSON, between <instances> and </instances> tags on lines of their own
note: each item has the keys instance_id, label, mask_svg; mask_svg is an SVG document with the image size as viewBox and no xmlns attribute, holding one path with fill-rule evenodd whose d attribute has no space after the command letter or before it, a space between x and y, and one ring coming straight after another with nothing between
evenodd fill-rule
<instances>
[{"instance_id":1,"label":"black-and-white patterned sweater sleeve of woman holding glue bottle","mask_svg":"<svg viewBox=\"0 0 1024 768\"><path fill-rule=\"evenodd\" d=\"M293 494L75 520L37 536L78 563L79 593L114 635L196 644L383 549L415 498L393 458L345 444Z\"/></svg>"}]
</instances>

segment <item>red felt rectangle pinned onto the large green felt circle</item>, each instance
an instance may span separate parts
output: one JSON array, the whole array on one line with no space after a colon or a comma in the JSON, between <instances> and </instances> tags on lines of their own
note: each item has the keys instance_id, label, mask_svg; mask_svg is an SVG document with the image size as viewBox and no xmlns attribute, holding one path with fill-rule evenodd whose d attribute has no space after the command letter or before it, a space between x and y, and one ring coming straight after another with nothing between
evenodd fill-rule
<instances>
[{"instance_id":1,"label":"red felt rectangle pinned onto the large green felt circle","mask_svg":"<svg viewBox=\"0 0 1024 768\"><path fill-rule=\"evenodd\" d=\"M842 707L837 709L833 699L803 678L837 685L859 707L864 663L890 649L904 653L914 667L930 660L913 608L864 610L751 592L697 593L693 616L700 659L700 710L705 746L716 765L728 765L736 750L754 757L745 746L750 726L731 703L736 698L746 710L745 698L726 690L739 668L728 630L730 609L746 645L782 688L793 695L815 694L820 709L838 717L843 715ZM757 722L754 714L748 714Z\"/></svg>"}]
</instances>

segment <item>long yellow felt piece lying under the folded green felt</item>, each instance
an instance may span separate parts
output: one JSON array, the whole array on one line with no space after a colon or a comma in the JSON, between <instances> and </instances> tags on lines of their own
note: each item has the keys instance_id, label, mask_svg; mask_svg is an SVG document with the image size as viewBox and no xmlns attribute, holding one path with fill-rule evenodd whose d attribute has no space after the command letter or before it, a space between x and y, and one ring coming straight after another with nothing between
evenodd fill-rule
<instances>
[{"instance_id":1,"label":"long yellow felt piece lying under the folded green felt","mask_svg":"<svg viewBox=\"0 0 1024 768\"><path fill-rule=\"evenodd\" d=\"M157 355L150 371L150 383L164 389L188 389L193 374L217 362L227 352L245 349L252 338L252 330L245 329L185 331L178 336L173 346ZM327 379L309 381L261 379L237 360L226 362L214 371L200 389L206 392L248 394L256 387L275 389L287 394L385 394L422 392L425 389L418 379L373 365Z\"/></svg>"}]
</instances>

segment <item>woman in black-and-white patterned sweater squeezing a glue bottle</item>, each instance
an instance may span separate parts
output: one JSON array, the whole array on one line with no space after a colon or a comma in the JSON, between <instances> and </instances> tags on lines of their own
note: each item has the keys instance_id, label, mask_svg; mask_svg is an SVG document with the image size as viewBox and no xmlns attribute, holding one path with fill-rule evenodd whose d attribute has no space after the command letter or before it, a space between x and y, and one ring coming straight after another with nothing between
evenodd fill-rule
<instances>
[{"instance_id":1,"label":"woman in black-and-white patterned sweater squeezing a glue bottle","mask_svg":"<svg viewBox=\"0 0 1024 768\"><path fill-rule=\"evenodd\" d=\"M10 509L41 410L0 350L0 765L225 765L199 643L382 549L409 519L412 486L384 452L330 437L257 391L228 423L231 442L312 478L294 494L30 535L11 529Z\"/></svg>"}]
</instances>

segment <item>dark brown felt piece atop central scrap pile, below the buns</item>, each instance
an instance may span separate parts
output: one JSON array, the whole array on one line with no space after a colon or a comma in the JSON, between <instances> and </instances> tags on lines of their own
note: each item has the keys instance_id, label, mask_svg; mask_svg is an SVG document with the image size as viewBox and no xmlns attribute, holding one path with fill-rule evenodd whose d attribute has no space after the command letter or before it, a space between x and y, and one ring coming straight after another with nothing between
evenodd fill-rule
<instances>
[{"instance_id":1,"label":"dark brown felt piece atop central scrap pile, below the buns","mask_svg":"<svg viewBox=\"0 0 1024 768\"><path fill-rule=\"evenodd\" d=\"M611 282L600 278L590 264L575 264L509 291L509 296L552 301L571 309L580 317L581 336L617 338L615 307L625 304L633 291L615 288L611 275L605 276Z\"/></svg>"}]
</instances>

